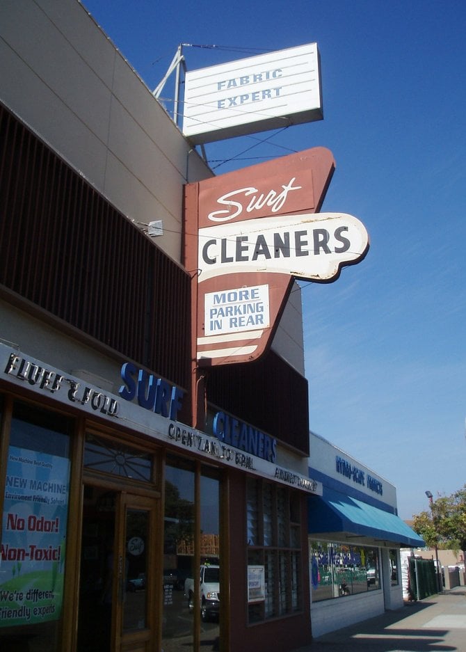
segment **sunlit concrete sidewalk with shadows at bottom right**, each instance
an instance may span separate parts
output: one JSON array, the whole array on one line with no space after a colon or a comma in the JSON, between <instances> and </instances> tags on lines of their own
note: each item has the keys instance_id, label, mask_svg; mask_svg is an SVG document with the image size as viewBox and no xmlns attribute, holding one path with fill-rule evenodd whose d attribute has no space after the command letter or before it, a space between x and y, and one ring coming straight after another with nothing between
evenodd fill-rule
<instances>
[{"instance_id":1,"label":"sunlit concrete sidewalk with shadows at bottom right","mask_svg":"<svg viewBox=\"0 0 466 652\"><path fill-rule=\"evenodd\" d=\"M466 588L456 587L313 640L294 652L466 652Z\"/></svg>"}]
</instances>

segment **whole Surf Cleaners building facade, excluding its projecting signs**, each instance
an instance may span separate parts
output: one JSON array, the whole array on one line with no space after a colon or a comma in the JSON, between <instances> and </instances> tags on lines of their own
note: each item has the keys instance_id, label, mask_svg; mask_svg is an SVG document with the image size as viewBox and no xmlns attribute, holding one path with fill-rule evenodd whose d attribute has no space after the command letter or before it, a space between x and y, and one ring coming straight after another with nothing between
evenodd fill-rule
<instances>
[{"instance_id":1,"label":"whole Surf Cleaners building facade, excluding its projecting signs","mask_svg":"<svg viewBox=\"0 0 466 652\"><path fill-rule=\"evenodd\" d=\"M203 370L195 428L211 170L77 0L1 3L0 54L2 649L309 642L299 292L259 362Z\"/></svg>"}]
</instances>

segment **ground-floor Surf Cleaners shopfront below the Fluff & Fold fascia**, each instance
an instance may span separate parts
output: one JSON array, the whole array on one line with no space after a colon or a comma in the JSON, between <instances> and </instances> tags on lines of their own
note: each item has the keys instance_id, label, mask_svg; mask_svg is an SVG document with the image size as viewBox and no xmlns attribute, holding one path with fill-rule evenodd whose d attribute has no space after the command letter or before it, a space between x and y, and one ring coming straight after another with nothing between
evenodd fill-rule
<instances>
[{"instance_id":1,"label":"ground-floor Surf Cleaners shopfront below the Fluff & Fold fascia","mask_svg":"<svg viewBox=\"0 0 466 652\"><path fill-rule=\"evenodd\" d=\"M127 369L114 395L5 344L0 365L2 645L227 650L230 610L264 641L271 619L308 623L304 496L319 483L177 422L175 387L159 413L126 400Z\"/></svg>"}]
</instances>

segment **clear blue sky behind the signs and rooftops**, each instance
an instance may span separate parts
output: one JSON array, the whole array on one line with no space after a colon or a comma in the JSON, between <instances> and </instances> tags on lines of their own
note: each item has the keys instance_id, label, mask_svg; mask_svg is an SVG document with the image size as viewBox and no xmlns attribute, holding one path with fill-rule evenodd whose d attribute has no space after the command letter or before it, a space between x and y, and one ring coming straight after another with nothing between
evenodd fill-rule
<instances>
[{"instance_id":1,"label":"clear blue sky behind the signs and rooftops","mask_svg":"<svg viewBox=\"0 0 466 652\"><path fill-rule=\"evenodd\" d=\"M151 89L180 42L221 46L185 47L188 70L317 42L324 120L213 143L207 157L220 174L332 151L323 211L360 218L371 248L335 283L302 284L311 428L395 484L402 518L428 507L426 489L462 487L466 3L84 5Z\"/></svg>"}]
</instances>

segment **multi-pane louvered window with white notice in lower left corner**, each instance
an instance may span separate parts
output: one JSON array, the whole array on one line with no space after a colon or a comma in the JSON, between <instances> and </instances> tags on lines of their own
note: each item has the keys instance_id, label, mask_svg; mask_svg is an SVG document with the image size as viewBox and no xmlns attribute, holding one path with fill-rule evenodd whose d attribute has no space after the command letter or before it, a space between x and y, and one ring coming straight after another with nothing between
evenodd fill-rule
<instances>
[{"instance_id":1,"label":"multi-pane louvered window with white notice in lower left corner","mask_svg":"<svg viewBox=\"0 0 466 652\"><path fill-rule=\"evenodd\" d=\"M296 493L248 479L248 618L257 623L303 608Z\"/></svg>"}]
</instances>

